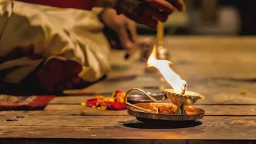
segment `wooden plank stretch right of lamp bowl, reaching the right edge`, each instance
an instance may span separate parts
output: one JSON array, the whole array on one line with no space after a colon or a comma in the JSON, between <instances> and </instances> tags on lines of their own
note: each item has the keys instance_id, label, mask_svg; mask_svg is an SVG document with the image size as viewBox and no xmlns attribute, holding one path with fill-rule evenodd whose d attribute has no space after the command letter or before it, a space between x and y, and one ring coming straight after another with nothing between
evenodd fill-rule
<instances>
[{"instance_id":1,"label":"wooden plank stretch right of lamp bowl, reaching the right edge","mask_svg":"<svg viewBox=\"0 0 256 144\"><path fill-rule=\"evenodd\" d=\"M188 81L189 83L189 81ZM197 104L256 104L256 83L243 81L191 81L189 90L205 95Z\"/></svg>"}]
</instances>

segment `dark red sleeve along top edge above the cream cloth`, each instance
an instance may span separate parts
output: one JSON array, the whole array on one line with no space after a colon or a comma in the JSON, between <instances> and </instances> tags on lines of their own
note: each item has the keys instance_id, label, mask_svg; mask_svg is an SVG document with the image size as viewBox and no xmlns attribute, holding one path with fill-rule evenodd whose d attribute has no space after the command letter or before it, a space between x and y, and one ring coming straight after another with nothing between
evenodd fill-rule
<instances>
[{"instance_id":1,"label":"dark red sleeve along top edge above the cream cloth","mask_svg":"<svg viewBox=\"0 0 256 144\"><path fill-rule=\"evenodd\" d=\"M49 5L53 7L75 8L91 10L96 0L18 0L27 3Z\"/></svg>"}]
</instances>

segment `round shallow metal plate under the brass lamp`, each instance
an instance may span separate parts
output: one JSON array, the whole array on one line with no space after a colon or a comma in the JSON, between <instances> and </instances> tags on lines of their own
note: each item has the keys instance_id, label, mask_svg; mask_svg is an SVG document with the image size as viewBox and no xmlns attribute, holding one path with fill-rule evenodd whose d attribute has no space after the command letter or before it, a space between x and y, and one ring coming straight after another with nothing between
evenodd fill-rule
<instances>
[{"instance_id":1,"label":"round shallow metal plate under the brass lamp","mask_svg":"<svg viewBox=\"0 0 256 144\"><path fill-rule=\"evenodd\" d=\"M149 109L150 107L159 107L165 105L166 107L172 107L172 103L137 103L134 104L138 107L142 107L144 109ZM187 114L178 115L178 114L163 114L163 113L147 113L144 111L140 111L134 107L128 106L127 111L129 115L137 117L140 121L195 121L197 119L203 118L205 115L205 111L203 109L199 109L196 107L187 106L185 107L185 111Z\"/></svg>"}]
</instances>

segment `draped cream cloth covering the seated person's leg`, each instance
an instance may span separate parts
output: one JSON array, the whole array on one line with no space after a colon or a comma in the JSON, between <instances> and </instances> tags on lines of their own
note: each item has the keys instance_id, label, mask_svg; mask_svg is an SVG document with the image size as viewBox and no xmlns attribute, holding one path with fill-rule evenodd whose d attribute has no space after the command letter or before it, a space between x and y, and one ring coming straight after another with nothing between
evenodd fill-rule
<instances>
[{"instance_id":1,"label":"draped cream cloth covering the seated person's leg","mask_svg":"<svg viewBox=\"0 0 256 144\"><path fill-rule=\"evenodd\" d=\"M109 70L109 44L98 19L100 9L84 11L0 0L0 75L19 83L53 57L83 65L79 76L96 81Z\"/></svg>"}]
</instances>

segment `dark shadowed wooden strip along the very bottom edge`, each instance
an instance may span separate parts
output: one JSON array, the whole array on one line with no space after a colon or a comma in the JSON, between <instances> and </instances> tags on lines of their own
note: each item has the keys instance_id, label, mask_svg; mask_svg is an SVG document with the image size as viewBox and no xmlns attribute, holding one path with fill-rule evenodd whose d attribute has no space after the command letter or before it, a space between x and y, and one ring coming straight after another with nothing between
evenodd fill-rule
<instances>
[{"instance_id":1,"label":"dark shadowed wooden strip along the very bottom edge","mask_svg":"<svg viewBox=\"0 0 256 144\"><path fill-rule=\"evenodd\" d=\"M161 144L187 144L187 143L196 143L196 144L205 144L205 143L255 143L255 140L233 140L233 139L225 139L225 140L218 140L218 139L207 139L207 140L198 140L198 139L65 139L65 138L5 138L0 139L0 143L4 144L15 144L15 143L22 143L22 144L99 144L99 143L122 143L122 144L141 144L141 143L161 143Z\"/></svg>"}]
</instances>

